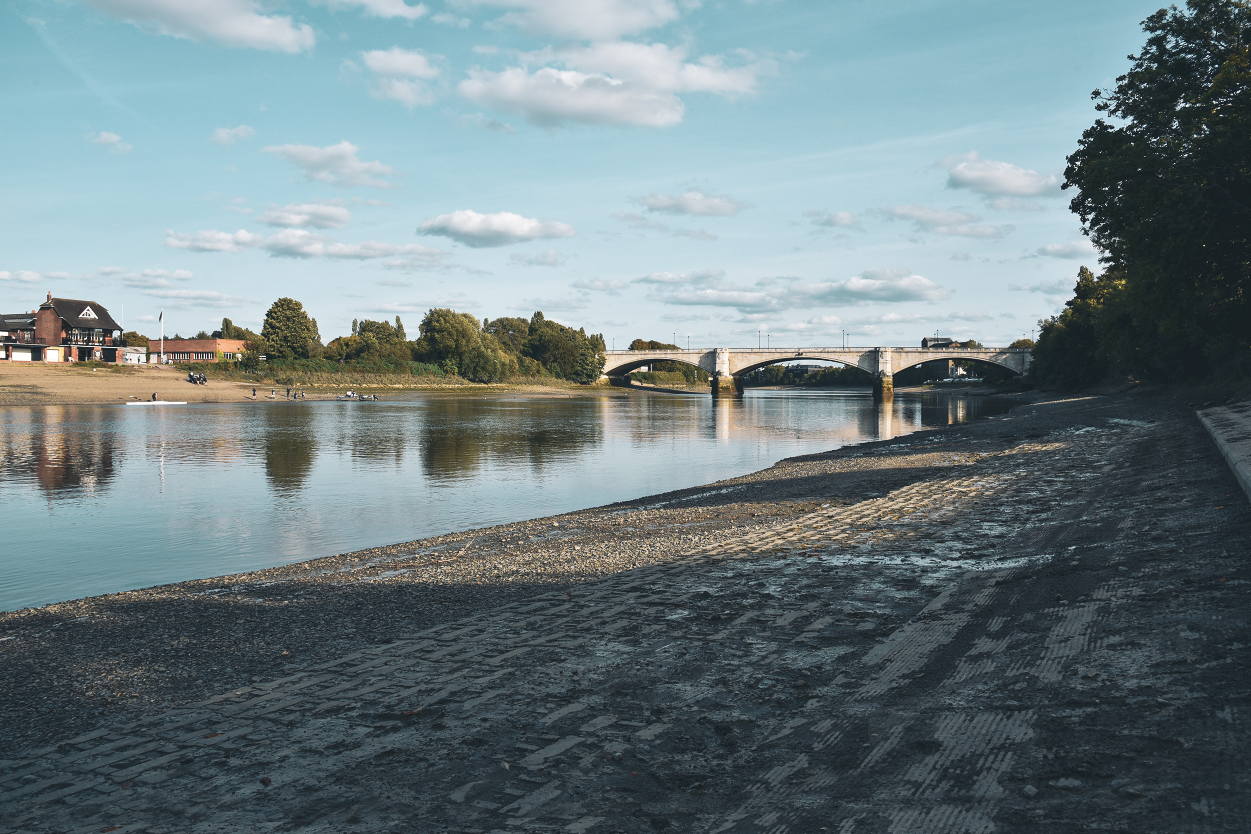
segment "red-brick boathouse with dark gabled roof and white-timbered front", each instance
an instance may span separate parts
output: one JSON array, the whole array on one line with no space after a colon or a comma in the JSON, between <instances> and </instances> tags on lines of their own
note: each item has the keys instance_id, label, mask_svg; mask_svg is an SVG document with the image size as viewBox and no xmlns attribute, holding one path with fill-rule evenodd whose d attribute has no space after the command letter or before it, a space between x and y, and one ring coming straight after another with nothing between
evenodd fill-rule
<instances>
[{"instance_id":1,"label":"red-brick boathouse with dark gabled roof and white-timbered front","mask_svg":"<svg viewBox=\"0 0 1251 834\"><path fill-rule=\"evenodd\" d=\"M4 359L13 361L118 361L120 335L100 304L51 293L38 310L0 315Z\"/></svg>"}]
</instances>

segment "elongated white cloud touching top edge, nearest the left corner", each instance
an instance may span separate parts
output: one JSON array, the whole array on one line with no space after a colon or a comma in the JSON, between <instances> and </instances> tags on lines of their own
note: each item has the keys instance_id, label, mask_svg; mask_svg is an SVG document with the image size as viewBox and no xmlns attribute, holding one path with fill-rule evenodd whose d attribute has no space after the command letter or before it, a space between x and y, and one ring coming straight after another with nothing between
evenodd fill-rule
<instances>
[{"instance_id":1,"label":"elongated white cloud touching top edge, nearest the left corner","mask_svg":"<svg viewBox=\"0 0 1251 834\"><path fill-rule=\"evenodd\" d=\"M110 18L145 31L189 40L215 40L279 53L311 49L317 35L308 24L284 15L260 14L253 0L86 0Z\"/></svg>"}]
</instances>

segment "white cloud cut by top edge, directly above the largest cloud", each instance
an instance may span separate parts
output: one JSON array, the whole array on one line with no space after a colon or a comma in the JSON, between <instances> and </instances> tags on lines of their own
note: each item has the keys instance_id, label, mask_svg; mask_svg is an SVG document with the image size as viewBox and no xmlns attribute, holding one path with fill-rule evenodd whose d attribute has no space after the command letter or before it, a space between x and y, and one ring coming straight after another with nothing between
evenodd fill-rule
<instances>
[{"instance_id":1,"label":"white cloud cut by top edge, directly above the largest cloud","mask_svg":"<svg viewBox=\"0 0 1251 834\"><path fill-rule=\"evenodd\" d=\"M495 21L537 35L575 40L620 38L678 19L672 0L472 0L479 6L513 9Z\"/></svg>"}]
</instances>

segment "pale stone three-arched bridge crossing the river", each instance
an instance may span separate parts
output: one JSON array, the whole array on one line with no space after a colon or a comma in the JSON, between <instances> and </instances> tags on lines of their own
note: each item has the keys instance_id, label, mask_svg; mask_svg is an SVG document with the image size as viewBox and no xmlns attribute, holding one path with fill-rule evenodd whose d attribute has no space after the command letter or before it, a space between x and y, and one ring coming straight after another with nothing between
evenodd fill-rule
<instances>
[{"instance_id":1,"label":"pale stone three-arched bridge crossing the river","mask_svg":"<svg viewBox=\"0 0 1251 834\"><path fill-rule=\"evenodd\" d=\"M1023 375L1030 370L1028 348L713 348L711 350L608 350L604 376L624 376L636 368L678 361L712 376L712 391L741 390L743 374L777 363L816 359L858 368L873 378L873 395L894 395L894 374L936 359L972 359Z\"/></svg>"}]
</instances>

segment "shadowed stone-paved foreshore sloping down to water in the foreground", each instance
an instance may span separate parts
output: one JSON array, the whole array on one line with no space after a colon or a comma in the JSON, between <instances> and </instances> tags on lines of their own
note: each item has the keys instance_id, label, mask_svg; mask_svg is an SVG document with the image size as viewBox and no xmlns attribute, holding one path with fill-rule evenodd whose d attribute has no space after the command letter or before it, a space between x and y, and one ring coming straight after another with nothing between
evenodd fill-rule
<instances>
[{"instance_id":1,"label":"shadowed stone-paved foreshore sloping down to water in the foreground","mask_svg":"<svg viewBox=\"0 0 1251 834\"><path fill-rule=\"evenodd\" d=\"M10 614L0 830L1242 831L1248 540L1086 398Z\"/></svg>"}]
</instances>

